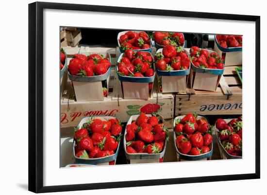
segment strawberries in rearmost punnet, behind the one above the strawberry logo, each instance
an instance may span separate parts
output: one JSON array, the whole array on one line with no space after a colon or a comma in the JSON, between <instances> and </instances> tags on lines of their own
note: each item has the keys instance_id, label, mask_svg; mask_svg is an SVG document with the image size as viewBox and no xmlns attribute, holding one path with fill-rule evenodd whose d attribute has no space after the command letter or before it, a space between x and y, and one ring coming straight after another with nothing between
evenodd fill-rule
<instances>
[{"instance_id":1,"label":"strawberries in rearmost punnet, behind the one above the strawberry logo","mask_svg":"<svg viewBox=\"0 0 267 195\"><path fill-rule=\"evenodd\" d=\"M124 35L119 36L119 44L123 50L133 49L133 50L141 50L141 49L150 49L150 38L148 34L145 32L134 32L128 31Z\"/></svg>"}]
</instances>

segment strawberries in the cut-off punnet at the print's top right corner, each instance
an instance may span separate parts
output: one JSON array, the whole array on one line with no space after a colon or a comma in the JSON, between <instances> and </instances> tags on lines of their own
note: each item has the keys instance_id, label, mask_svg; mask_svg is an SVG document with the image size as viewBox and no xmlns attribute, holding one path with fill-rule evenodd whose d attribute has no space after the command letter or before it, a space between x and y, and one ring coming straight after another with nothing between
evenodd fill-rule
<instances>
[{"instance_id":1,"label":"strawberries in the cut-off punnet at the print's top right corner","mask_svg":"<svg viewBox=\"0 0 267 195\"><path fill-rule=\"evenodd\" d=\"M216 39L221 47L242 47L242 36L240 35L216 35Z\"/></svg>"}]
</instances>

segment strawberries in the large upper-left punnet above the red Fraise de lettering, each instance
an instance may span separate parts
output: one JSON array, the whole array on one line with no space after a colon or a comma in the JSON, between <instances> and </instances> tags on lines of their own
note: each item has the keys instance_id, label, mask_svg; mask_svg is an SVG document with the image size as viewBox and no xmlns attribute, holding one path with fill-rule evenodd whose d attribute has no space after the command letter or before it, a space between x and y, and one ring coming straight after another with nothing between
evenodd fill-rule
<instances>
[{"instance_id":1,"label":"strawberries in the large upper-left punnet above the red Fraise de lettering","mask_svg":"<svg viewBox=\"0 0 267 195\"><path fill-rule=\"evenodd\" d=\"M96 53L89 56L74 54L69 61L68 71L72 75L95 76L106 73L110 66L110 61L102 55Z\"/></svg>"}]
</instances>

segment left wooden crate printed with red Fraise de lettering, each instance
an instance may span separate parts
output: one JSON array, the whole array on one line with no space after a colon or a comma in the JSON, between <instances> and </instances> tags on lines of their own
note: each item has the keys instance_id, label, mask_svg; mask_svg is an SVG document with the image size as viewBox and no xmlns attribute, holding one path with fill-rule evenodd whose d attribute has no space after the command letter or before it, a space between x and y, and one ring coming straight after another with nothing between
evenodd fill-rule
<instances>
[{"instance_id":1,"label":"left wooden crate printed with red Fraise de lettering","mask_svg":"<svg viewBox=\"0 0 267 195\"><path fill-rule=\"evenodd\" d=\"M103 101L76 102L74 100L74 91L69 79L67 80L67 89L63 92L61 99L61 127L77 126L83 117L92 115L117 116L121 122L127 122L131 115L139 113L150 104L160 105L159 113L166 119L168 126L171 127L173 119L174 97L173 94L162 94L157 91L158 86L154 85L151 97L148 100L123 99L121 87L115 71L116 48L92 48L81 47L63 48L69 59L75 53L86 53L94 51L109 52L111 54L112 71L110 74L109 93ZM156 82L157 83L157 82Z\"/></svg>"}]
</instances>

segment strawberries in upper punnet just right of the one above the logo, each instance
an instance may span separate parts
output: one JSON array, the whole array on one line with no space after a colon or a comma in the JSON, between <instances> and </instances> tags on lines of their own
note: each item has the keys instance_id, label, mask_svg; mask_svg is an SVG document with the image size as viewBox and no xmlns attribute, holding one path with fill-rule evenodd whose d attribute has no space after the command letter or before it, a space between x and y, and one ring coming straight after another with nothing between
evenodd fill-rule
<instances>
[{"instance_id":1,"label":"strawberries in upper punnet just right of the one above the logo","mask_svg":"<svg viewBox=\"0 0 267 195\"><path fill-rule=\"evenodd\" d=\"M160 71L188 70L190 66L190 58L181 46L165 46L162 53L155 54L155 60L156 69Z\"/></svg>"}]
</instances>

